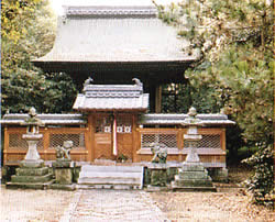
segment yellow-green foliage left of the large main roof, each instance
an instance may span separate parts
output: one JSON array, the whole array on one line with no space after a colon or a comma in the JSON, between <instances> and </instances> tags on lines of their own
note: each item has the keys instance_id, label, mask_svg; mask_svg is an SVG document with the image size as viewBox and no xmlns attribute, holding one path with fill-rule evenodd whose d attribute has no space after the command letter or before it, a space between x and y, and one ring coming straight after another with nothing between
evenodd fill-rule
<instances>
[{"instance_id":1,"label":"yellow-green foliage left of the large main roof","mask_svg":"<svg viewBox=\"0 0 275 222\"><path fill-rule=\"evenodd\" d=\"M53 47L55 18L48 1L1 1L2 113L69 111L76 89L65 74L43 74L31 59ZM64 102L66 101L66 102Z\"/></svg>"}]
</instances>

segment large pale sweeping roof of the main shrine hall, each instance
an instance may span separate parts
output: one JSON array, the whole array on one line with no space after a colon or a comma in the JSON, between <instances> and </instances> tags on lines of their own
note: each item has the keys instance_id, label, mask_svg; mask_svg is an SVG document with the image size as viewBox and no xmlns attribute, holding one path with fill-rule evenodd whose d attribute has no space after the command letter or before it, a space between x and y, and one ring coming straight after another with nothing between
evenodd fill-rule
<instances>
[{"instance_id":1,"label":"large pale sweeping roof of the main shrine hall","mask_svg":"<svg viewBox=\"0 0 275 222\"><path fill-rule=\"evenodd\" d=\"M138 1L116 2L67 7L66 16L59 18L53 49L34 64L187 62L188 66L196 59L183 52L188 43L178 38L177 29L157 18L152 1L138 5Z\"/></svg>"}]
</instances>

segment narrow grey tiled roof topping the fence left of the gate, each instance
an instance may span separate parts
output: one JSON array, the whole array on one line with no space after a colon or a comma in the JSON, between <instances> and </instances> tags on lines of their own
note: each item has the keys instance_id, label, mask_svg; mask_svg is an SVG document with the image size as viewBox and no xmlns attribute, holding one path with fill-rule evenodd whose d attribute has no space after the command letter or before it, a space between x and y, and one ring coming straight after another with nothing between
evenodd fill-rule
<instances>
[{"instance_id":1,"label":"narrow grey tiled roof topping the fence left of the gate","mask_svg":"<svg viewBox=\"0 0 275 222\"><path fill-rule=\"evenodd\" d=\"M10 113L4 114L1 124L14 124L18 125L23 123L29 114ZM74 124L86 124L86 120L81 114L37 114L46 125L74 125Z\"/></svg>"}]
</instances>

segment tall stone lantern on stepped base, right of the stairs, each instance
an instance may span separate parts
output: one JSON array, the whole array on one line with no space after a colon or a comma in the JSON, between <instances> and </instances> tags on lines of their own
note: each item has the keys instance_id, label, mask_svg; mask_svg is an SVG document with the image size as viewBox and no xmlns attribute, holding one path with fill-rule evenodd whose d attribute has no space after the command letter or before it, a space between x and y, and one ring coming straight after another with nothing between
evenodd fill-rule
<instances>
[{"instance_id":1,"label":"tall stone lantern on stepped base, right of the stairs","mask_svg":"<svg viewBox=\"0 0 275 222\"><path fill-rule=\"evenodd\" d=\"M198 144L202 135L198 133L198 127L202 126L202 121L197 118L195 108L190 108L188 118L183 123L187 126L187 134L184 134L184 141L187 145L188 153L183 167L175 175L175 181L172 181L173 190L183 191L216 191L212 185L212 179L208 176L202 163L198 156Z\"/></svg>"}]
</instances>

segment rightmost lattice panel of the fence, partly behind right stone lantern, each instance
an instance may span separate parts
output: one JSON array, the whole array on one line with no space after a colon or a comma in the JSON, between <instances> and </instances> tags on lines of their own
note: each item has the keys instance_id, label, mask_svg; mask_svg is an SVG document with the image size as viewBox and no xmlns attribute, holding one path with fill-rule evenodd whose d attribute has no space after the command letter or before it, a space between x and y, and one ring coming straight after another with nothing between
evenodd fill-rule
<instances>
[{"instance_id":1,"label":"rightmost lattice panel of the fence, partly behind right stone lantern","mask_svg":"<svg viewBox=\"0 0 275 222\"><path fill-rule=\"evenodd\" d=\"M188 147L186 142L184 142L184 147ZM198 142L198 148L221 148L221 136L219 134L202 135Z\"/></svg>"}]
</instances>

